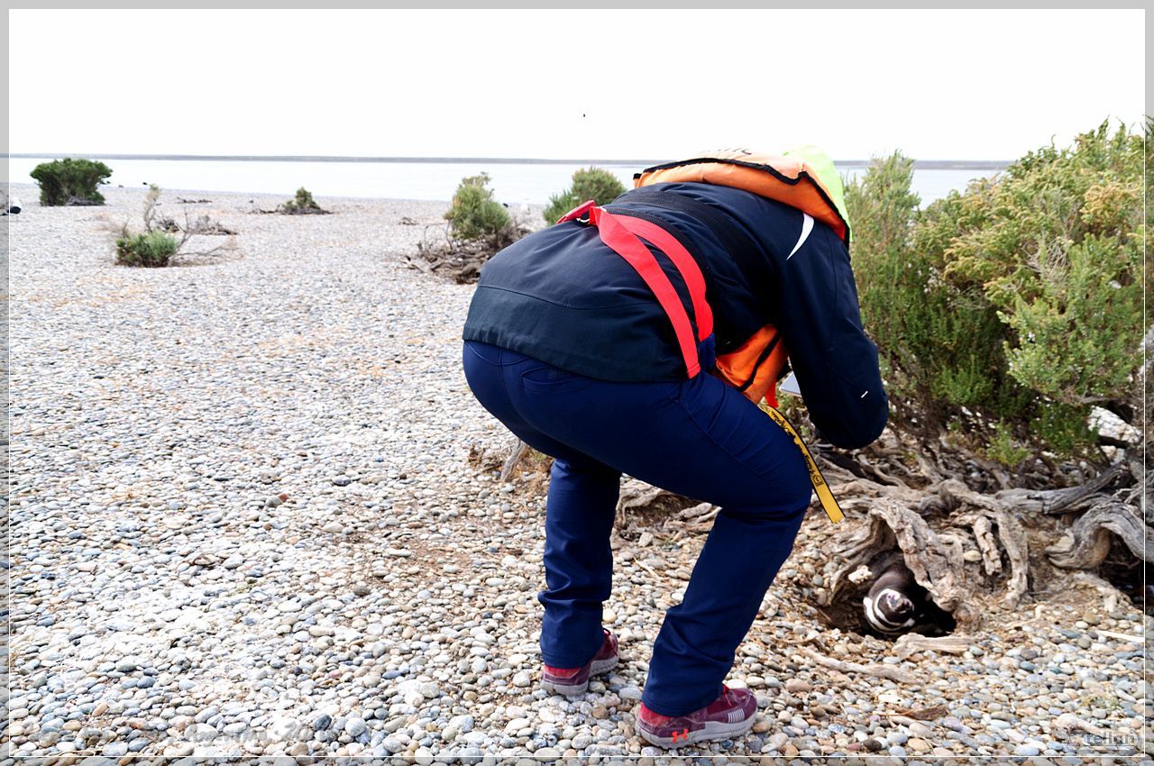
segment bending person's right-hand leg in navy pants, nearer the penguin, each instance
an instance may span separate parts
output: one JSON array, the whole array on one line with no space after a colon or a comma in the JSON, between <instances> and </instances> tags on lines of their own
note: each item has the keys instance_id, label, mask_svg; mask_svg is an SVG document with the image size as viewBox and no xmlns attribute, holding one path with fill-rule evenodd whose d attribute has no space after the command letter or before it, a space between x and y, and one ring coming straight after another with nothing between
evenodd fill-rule
<instances>
[{"instance_id":1,"label":"bending person's right-hand leg in navy pants, nearer the penguin","mask_svg":"<svg viewBox=\"0 0 1154 766\"><path fill-rule=\"evenodd\" d=\"M621 384L557 374L552 386L544 384L552 380L546 369L526 375L507 383L533 429L643 481L722 506L685 598L666 615L644 693L645 705L665 715L704 707L720 694L809 504L796 445L707 375Z\"/></svg>"}]
</instances>

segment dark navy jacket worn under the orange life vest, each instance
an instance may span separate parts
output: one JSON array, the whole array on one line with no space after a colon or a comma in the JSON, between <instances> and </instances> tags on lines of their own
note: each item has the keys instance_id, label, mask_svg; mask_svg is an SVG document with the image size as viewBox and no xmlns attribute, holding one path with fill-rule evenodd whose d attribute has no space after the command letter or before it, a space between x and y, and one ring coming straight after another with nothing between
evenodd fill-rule
<instances>
[{"instance_id":1,"label":"dark navy jacket worn under the orange life vest","mask_svg":"<svg viewBox=\"0 0 1154 766\"><path fill-rule=\"evenodd\" d=\"M877 347L862 331L849 254L829 226L812 221L803 238L801 211L706 183L635 189L607 210L661 225L702 266L718 354L772 322L822 435L849 449L881 435L889 403ZM676 268L653 253L692 317ZM578 221L530 234L489 260L464 338L607 381L685 378L657 299L595 228Z\"/></svg>"}]
</instances>

